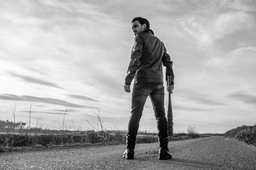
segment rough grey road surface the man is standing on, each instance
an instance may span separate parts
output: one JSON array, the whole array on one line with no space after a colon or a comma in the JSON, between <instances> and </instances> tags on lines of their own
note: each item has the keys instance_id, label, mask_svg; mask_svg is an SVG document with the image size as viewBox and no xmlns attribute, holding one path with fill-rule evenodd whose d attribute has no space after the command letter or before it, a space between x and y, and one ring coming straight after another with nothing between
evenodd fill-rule
<instances>
[{"instance_id":1,"label":"rough grey road surface the man is standing on","mask_svg":"<svg viewBox=\"0 0 256 170\"><path fill-rule=\"evenodd\" d=\"M220 136L169 143L172 160L157 160L157 143L0 153L0 169L256 169L256 148Z\"/></svg>"}]
</instances>

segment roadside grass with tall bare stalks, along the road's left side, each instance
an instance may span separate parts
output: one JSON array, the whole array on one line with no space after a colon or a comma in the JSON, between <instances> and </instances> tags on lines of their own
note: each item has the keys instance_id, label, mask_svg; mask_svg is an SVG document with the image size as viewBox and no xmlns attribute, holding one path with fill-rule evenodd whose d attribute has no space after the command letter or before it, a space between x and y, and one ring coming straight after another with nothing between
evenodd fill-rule
<instances>
[{"instance_id":1,"label":"roadside grass with tall bare stalks, along the road's left side","mask_svg":"<svg viewBox=\"0 0 256 170\"><path fill-rule=\"evenodd\" d=\"M96 114L96 121L87 120L92 130L81 131L81 125L77 130L68 131L65 126L67 108L63 113L63 121L60 130L43 129L36 123L36 127L31 127L31 105L28 113L28 123L16 122L16 104L11 106L13 120L0 120L0 152L10 150L26 150L35 148L49 148L59 146L77 145L114 145L122 144L126 141L127 131L108 131L104 128L104 120L100 111ZM170 141L200 138L211 136L211 134L198 134L195 125L189 125L188 133L174 133ZM136 143L156 143L157 133L139 132Z\"/></svg>"}]
</instances>

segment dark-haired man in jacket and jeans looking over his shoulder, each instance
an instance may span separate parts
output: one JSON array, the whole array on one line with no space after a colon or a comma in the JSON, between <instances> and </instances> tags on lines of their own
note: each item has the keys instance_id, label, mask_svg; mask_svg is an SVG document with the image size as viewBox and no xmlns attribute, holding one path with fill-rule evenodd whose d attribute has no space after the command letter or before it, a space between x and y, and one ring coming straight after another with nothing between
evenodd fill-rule
<instances>
[{"instance_id":1,"label":"dark-haired man in jacket and jeans looking over his shoulder","mask_svg":"<svg viewBox=\"0 0 256 170\"><path fill-rule=\"evenodd\" d=\"M132 111L128 124L127 146L123 153L125 159L134 159L134 147L140 118L147 96L150 96L157 120L159 138L159 159L172 159L168 150L168 127L164 111L163 66L167 76L172 76L171 85L167 84L168 92L173 90L173 69L170 56L166 53L164 44L154 36L147 19L136 17L132 20L134 46L131 62L125 78L124 90L131 92L130 85L134 78L132 89Z\"/></svg>"}]
</instances>

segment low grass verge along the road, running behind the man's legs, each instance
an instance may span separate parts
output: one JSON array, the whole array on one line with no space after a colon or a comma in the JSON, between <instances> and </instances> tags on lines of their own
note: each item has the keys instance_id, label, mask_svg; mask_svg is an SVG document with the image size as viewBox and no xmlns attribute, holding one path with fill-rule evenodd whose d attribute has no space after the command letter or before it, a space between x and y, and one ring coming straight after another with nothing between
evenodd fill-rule
<instances>
[{"instance_id":1,"label":"low grass verge along the road, running behind the man's legs","mask_svg":"<svg viewBox=\"0 0 256 170\"><path fill-rule=\"evenodd\" d=\"M127 132L121 131L50 131L48 133L6 133L0 134L0 152L15 150L15 148L48 148L68 145L113 145L125 144ZM104 134L104 135L103 135ZM206 137L197 134L197 138ZM172 141L195 138L185 133L173 134ZM136 143L157 143L157 134L138 134Z\"/></svg>"}]
</instances>

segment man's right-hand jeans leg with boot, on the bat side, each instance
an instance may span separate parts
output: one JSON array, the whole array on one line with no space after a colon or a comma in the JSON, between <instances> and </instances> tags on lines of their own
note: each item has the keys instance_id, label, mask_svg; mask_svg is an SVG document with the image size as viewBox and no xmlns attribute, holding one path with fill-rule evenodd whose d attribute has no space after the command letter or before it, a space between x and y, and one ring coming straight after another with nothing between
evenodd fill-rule
<instances>
[{"instance_id":1,"label":"man's right-hand jeans leg with boot, on the bat side","mask_svg":"<svg viewBox=\"0 0 256 170\"><path fill-rule=\"evenodd\" d=\"M159 138L159 159L172 159L168 150L168 126L164 111L164 87L156 85L153 92L150 93L150 99L153 104L154 113L157 120L158 138Z\"/></svg>"}]
</instances>

